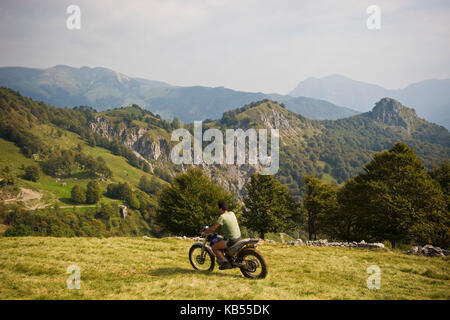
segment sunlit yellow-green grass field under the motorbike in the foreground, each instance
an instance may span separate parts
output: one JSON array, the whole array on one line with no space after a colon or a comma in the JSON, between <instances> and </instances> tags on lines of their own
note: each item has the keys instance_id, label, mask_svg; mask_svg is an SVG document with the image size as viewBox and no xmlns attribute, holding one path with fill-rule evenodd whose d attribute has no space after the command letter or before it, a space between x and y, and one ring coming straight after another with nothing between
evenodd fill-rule
<instances>
[{"instance_id":1,"label":"sunlit yellow-green grass field under the motorbike in the foreground","mask_svg":"<svg viewBox=\"0 0 450 320\"><path fill-rule=\"evenodd\" d=\"M401 252L264 244L263 280L239 269L199 273L191 240L0 238L0 299L449 299L448 258ZM81 288L69 290L70 265ZM381 269L369 290L367 268Z\"/></svg>"}]
</instances>

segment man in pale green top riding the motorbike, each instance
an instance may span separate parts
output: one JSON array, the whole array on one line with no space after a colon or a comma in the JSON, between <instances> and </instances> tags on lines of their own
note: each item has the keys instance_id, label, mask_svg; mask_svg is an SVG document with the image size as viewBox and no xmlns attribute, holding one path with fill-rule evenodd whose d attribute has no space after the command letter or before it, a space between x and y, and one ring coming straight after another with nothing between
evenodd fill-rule
<instances>
[{"instance_id":1,"label":"man in pale green top riding the motorbike","mask_svg":"<svg viewBox=\"0 0 450 320\"><path fill-rule=\"evenodd\" d=\"M219 211L220 216L217 219L217 222L204 232L202 232L202 237L206 236L209 233L213 233L217 228L222 226L222 233L224 238L219 235L215 235L211 239L211 248L214 254L217 257L219 262L219 269L231 269L231 263L225 258L223 251L227 247L233 245L236 241L239 241L241 238L241 230L239 229L239 224L237 222L236 216L233 211L228 211L228 204L225 201L219 201Z\"/></svg>"}]
</instances>

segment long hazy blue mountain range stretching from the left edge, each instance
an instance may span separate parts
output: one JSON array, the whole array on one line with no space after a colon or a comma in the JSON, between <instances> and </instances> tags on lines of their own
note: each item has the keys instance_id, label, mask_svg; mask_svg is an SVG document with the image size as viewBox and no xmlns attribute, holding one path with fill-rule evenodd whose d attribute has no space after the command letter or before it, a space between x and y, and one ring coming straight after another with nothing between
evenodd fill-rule
<instances>
[{"instance_id":1,"label":"long hazy blue mountain range stretching from the left edge","mask_svg":"<svg viewBox=\"0 0 450 320\"><path fill-rule=\"evenodd\" d=\"M164 119L178 117L183 122L219 119L227 110L266 98L317 120L334 120L358 113L313 98L251 93L223 87L171 86L159 81L130 78L106 68L3 67L0 68L0 85L58 107L86 105L103 111L137 104Z\"/></svg>"}]
</instances>

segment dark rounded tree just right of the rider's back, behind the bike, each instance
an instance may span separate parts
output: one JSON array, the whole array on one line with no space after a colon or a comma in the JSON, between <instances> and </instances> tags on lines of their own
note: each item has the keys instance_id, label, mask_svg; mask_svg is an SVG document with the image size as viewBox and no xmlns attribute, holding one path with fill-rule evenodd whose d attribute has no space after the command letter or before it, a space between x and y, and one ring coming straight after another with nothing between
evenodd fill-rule
<instances>
[{"instance_id":1,"label":"dark rounded tree just right of the rider's back, behind the bike","mask_svg":"<svg viewBox=\"0 0 450 320\"><path fill-rule=\"evenodd\" d=\"M289 231L297 226L298 204L273 176L253 174L246 190L243 224L262 239L268 232Z\"/></svg>"}]
</instances>

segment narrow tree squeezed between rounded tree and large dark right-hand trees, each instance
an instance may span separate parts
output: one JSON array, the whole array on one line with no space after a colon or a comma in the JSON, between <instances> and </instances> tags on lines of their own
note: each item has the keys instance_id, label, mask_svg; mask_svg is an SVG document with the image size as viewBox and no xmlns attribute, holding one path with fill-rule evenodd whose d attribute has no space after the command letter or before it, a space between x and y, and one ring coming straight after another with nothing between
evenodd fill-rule
<instances>
[{"instance_id":1,"label":"narrow tree squeezed between rounded tree and large dark right-hand trees","mask_svg":"<svg viewBox=\"0 0 450 320\"><path fill-rule=\"evenodd\" d=\"M335 218L338 209L337 188L313 176L305 176L303 209L307 218L309 240L318 233L335 235Z\"/></svg>"}]
</instances>

